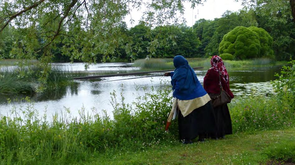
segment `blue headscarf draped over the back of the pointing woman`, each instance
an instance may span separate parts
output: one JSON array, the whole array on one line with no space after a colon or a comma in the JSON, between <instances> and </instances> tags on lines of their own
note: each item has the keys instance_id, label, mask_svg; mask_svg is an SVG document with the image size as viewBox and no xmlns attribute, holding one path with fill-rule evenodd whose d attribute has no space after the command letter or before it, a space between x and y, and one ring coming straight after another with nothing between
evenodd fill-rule
<instances>
[{"instance_id":1,"label":"blue headscarf draped over the back of the pointing woman","mask_svg":"<svg viewBox=\"0 0 295 165\"><path fill-rule=\"evenodd\" d=\"M195 71L183 56L175 56L173 64L175 70L171 73L171 85L174 97L179 100L191 100L207 94L197 79Z\"/></svg>"}]
</instances>

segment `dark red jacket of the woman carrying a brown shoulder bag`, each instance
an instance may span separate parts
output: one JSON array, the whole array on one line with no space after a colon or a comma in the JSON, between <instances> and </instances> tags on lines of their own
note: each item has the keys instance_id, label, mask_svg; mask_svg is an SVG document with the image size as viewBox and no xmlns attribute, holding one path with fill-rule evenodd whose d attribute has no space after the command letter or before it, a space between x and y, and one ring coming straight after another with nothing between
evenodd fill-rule
<instances>
[{"instance_id":1,"label":"dark red jacket of the woman carrying a brown shoulder bag","mask_svg":"<svg viewBox=\"0 0 295 165\"><path fill-rule=\"evenodd\" d=\"M207 71L206 76L204 77L204 89L207 93L220 93L219 86L219 73L214 69L209 69ZM221 85L223 90L226 91L231 98L234 98L234 94L232 94L229 86L229 81L226 83L223 78L221 78Z\"/></svg>"}]
</instances>

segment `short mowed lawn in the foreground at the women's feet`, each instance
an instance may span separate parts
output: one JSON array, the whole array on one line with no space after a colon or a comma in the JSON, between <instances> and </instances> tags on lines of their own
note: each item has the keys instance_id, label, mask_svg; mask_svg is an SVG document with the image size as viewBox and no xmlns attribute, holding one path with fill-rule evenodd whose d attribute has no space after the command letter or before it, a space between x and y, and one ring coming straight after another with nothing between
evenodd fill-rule
<instances>
[{"instance_id":1,"label":"short mowed lawn in the foreground at the women's feet","mask_svg":"<svg viewBox=\"0 0 295 165\"><path fill-rule=\"evenodd\" d=\"M295 127L240 133L191 145L171 142L137 152L107 153L93 155L88 164L283 164L284 157L294 164Z\"/></svg>"}]
</instances>

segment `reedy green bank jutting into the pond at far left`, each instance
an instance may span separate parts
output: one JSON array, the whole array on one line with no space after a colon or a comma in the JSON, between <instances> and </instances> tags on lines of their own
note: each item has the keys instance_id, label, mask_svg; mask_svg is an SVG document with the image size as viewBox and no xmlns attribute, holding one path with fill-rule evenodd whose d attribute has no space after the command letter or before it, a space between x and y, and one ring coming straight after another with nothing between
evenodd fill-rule
<instances>
[{"instance_id":1,"label":"reedy green bank jutting into the pond at far left","mask_svg":"<svg viewBox=\"0 0 295 165\"><path fill-rule=\"evenodd\" d=\"M44 69L48 75L42 77ZM0 68L0 94L22 94L32 96L35 93L58 91L73 83L74 77L96 76L104 74L126 73L124 70L104 72L71 72L69 70L43 65L25 65Z\"/></svg>"}]
</instances>

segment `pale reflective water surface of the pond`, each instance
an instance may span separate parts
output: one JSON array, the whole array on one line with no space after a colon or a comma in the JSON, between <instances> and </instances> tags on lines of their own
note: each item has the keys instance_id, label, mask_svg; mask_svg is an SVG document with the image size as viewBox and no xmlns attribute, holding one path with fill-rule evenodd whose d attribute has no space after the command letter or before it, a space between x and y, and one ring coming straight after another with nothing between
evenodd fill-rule
<instances>
[{"instance_id":1,"label":"pale reflective water surface of the pond","mask_svg":"<svg viewBox=\"0 0 295 165\"><path fill-rule=\"evenodd\" d=\"M83 71L83 63L55 63L56 67L62 67L69 71ZM104 63L91 65L89 71L130 71L138 70L138 67L132 67L132 63ZM235 97L241 97L254 93L255 95L268 96L274 91L270 80L274 80L274 74L280 71L280 67L244 67L244 68L227 68L230 75L230 88ZM207 69L196 71L197 77L201 84L203 78L207 73ZM157 75L159 73L155 73ZM161 73L160 73L161 74ZM153 75L153 74L149 74ZM125 78L135 78L144 75L134 76L117 76L102 78L102 81L118 80ZM60 113L66 108L70 109L72 116L79 116L78 111L84 107L86 111L91 113L91 108L95 107L98 113L102 109L107 110L108 114L112 114L112 105L110 103L111 95L113 91L117 92L118 98L121 91L125 97L126 103L131 103L137 96L142 96L145 93L145 88L150 89L153 86L155 89L159 88L160 83L170 81L170 77L149 77L149 78L137 78L113 82L98 83L98 81L89 80L75 80L74 84L61 89L59 91L47 92L42 95L32 96L31 100L34 101L34 108L40 115L46 113L51 114ZM169 83L167 83L169 85ZM137 89L137 90L136 90ZM12 104L7 104L7 98L22 98L24 96L7 96L0 95L0 113L2 115L9 114L12 106L17 109L22 107L25 109L27 103L24 101L12 101ZM46 112L45 112L46 109Z\"/></svg>"}]
</instances>

